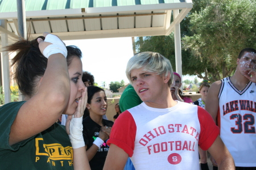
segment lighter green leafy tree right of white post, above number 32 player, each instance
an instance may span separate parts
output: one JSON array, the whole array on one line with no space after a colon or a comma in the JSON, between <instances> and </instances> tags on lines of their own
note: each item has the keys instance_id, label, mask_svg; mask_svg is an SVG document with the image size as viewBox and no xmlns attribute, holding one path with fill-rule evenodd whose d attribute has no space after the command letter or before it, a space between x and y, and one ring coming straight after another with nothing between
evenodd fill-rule
<instances>
[{"instance_id":1,"label":"lighter green leafy tree right of white post, above number 32 player","mask_svg":"<svg viewBox=\"0 0 256 170\"><path fill-rule=\"evenodd\" d=\"M209 71L207 67L205 73L211 74L213 80L229 76L236 70L241 49L256 47L255 1L214 0L190 17L194 34L183 38L183 47L191 50L195 58L205 60L214 70Z\"/></svg>"}]
</instances>

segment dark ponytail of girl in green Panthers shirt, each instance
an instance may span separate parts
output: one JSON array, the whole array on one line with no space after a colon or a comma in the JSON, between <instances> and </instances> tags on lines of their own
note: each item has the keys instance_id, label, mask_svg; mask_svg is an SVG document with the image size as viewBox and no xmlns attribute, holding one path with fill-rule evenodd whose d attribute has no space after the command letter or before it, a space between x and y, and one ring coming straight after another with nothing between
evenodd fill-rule
<instances>
[{"instance_id":1,"label":"dark ponytail of girl in green Panthers shirt","mask_svg":"<svg viewBox=\"0 0 256 170\"><path fill-rule=\"evenodd\" d=\"M43 36L40 38L44 40ZM35 86L47 67L47 58L40 52L38 45L37 39L21 39L5 48L9 52L17 52L11 60L11 66L15 68L14 79L19 91L29 97L35 94Z\"/></svg>"}]
</instances>

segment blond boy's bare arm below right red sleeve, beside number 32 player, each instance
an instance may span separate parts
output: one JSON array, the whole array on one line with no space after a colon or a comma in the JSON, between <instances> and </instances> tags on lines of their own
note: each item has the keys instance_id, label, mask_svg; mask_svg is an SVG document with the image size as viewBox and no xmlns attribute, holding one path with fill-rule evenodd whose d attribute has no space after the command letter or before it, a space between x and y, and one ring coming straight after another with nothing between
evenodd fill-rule
<instances>
[{"instance_id":1,"label":"blond boy's bare arm below right red sleeve, beside number 32 player","mask_svg":"<svg viewBox=\"0 0 256 170\"><path fill-rule=\"evenodd\" d=\"M218 165L219 170L234 170L234 160L232 155L229 153L228 148L222 142L220 136L218 136L213 142L212 146L208 149L210 155L213 156L214 160Z\"/></svg>"}]
</instances>

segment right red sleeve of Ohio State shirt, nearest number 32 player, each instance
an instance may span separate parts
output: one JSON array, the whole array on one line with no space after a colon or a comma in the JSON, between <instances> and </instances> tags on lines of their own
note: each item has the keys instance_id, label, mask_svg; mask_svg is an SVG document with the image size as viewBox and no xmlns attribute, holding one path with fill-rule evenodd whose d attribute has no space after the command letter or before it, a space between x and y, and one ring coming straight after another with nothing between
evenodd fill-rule
<instances>
[{"instance_id":1,"label":"right red sleeve of Ohio State shirt, nearest number 32 player","mask_svg":"<svg viewBox=\"0 0 256 170\"><path fill-rule=\"evenodd\" d=\"M214 123L212 116L201 107L197 107L198 117L200 122L201 132L199 135L199 146L203 150L208 150L212 146L213 142L220 134L220 129Z\"/></svg>"}]
</instances>

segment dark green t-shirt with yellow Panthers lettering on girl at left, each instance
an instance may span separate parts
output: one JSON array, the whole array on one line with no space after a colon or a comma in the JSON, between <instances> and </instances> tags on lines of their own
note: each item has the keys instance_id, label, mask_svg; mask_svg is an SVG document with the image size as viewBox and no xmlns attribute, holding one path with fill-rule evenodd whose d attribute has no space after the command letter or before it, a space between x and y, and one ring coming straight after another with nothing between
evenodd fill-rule
<instances>
[{"instance_id":1,"label":"dark green t-shirt with yellow Panthers lettering on girl at left","mask_svg":"<svg viewBox=\"0 0 256 170\"><path fill-rule=\"evenodd\" d=\"M63 125L55 123L34 137L9 145L11 125L25 102L0 107L0 169L73 169L73 149Z\"/></svg>"}]
</instances>

